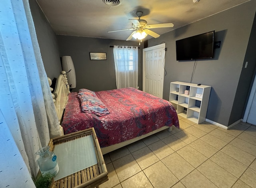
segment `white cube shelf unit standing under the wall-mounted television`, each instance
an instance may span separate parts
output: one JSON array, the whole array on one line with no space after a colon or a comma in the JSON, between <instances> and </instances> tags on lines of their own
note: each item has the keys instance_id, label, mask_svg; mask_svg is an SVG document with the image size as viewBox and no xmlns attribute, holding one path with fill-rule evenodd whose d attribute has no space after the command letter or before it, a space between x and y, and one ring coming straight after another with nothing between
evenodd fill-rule
<instances>
[{"instance_id":1,"label":"white cube shelf unit standing under the wall-mounted television","mask_svg":"<svg viewBox=\"0 0 256 188\"><path fill-rule=\"evenodd\" d=\"M185 95L189 90L189 95ZM170 85L169 101L178 115L200 124L205 121L211 86L175 81Z\"/></svg>"}]
</instances>

